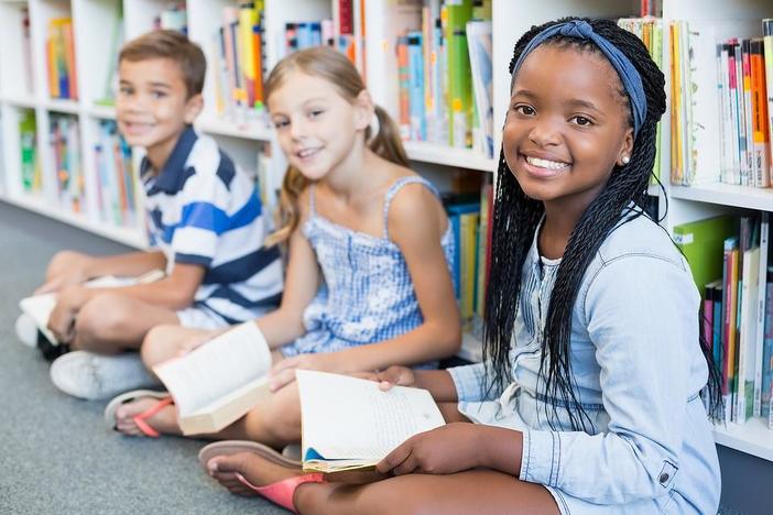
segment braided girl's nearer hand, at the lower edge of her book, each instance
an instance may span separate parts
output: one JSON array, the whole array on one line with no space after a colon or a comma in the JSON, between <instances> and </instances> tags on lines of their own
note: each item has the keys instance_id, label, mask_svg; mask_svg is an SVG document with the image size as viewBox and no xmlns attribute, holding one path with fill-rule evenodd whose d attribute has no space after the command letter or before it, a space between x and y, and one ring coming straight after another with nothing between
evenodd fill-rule
<instances>
[{"instance_id":1,"label":"braided girl's nearer hand, at the lower edge of her book","mask_svg":"<svg viewBox=\"0 0 773 515\"><path fill-rule=\"evenodd\" d=\"M480 467L480 446L475 424L453 423L420 432L381 460L375 470L395 475L453 474Z\"/></svg>"}]
</instances>

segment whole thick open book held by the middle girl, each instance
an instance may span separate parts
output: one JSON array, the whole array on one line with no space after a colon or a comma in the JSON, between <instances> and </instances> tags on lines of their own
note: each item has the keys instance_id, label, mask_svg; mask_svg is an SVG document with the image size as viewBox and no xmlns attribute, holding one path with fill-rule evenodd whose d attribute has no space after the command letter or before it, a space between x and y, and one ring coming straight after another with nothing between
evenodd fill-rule
<instances>
[{"instance_id":1,"label":"whole thick open book held by the middle girl","mask_svg":"<svg viewBox=\"0 0 773 515\"><path fill-rule=\"evenodd\" d=\"M217 432L271 395L271 350L254 321L153 366L177 406L183 435Z\"/></svg>"}]
</instances>

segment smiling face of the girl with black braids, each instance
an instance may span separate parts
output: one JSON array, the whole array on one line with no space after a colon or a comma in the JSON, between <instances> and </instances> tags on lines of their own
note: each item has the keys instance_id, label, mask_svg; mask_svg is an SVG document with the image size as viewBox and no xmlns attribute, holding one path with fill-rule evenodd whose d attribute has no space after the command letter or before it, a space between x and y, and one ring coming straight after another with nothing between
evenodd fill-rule
<instances>
[{"instance_id":1,"label":"smiling face of the girl with black braids","mask_svg":"<svg viewBox=\"0 0 773 515\"><path fill-rule=\"evenodd\" d=\"M629 108L617 74L589 51L545 45L513 83L504 157L524 193L537 200L587 206L625 150ZM632 138L631 138L632 140Z\"/></svg>"}]
</instances>

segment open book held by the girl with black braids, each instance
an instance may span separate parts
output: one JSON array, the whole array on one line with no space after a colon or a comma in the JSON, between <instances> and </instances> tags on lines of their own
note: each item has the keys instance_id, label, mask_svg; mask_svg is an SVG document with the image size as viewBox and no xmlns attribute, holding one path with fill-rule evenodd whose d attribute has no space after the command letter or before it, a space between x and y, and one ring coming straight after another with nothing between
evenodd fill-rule
<instances>
[{"instance_id":1,"label":"open book held by the girl with black braids","mask_svg":"<svg viewBox=\"0 0 773 515\"><path fill-rule=\"evenodd\" d=\"M373 469L413 435L445 424L429 392L347 375L296 371L305 471Z\"/></svg>"}]
</instances>

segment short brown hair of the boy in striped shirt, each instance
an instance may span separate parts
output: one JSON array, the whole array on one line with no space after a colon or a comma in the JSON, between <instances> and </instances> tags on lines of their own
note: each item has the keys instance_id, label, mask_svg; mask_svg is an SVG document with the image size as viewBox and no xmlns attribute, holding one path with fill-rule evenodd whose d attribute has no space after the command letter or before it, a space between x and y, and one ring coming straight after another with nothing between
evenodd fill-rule
<instances>
[{"instance_id":1,"label":"short brown hair of the boy in striped shirt","mask_svg":"<svg viewBox=\"0 0 773 515\"><path fill-rule=\"evenodd\" d=\"M202 48L181 32L170 30L148 32L124 44L121 53L118 54L119 63L155 58L177 63L183 73L188 98L202 94L204 76L207 73L207 59Z\"/></svg>"}]
</instances>

